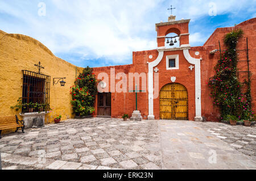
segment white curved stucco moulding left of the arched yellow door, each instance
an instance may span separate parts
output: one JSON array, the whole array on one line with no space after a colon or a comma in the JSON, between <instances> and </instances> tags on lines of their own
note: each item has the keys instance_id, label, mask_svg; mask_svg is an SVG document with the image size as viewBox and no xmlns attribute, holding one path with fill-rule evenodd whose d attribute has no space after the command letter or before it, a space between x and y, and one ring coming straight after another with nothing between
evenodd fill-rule
<instances>
[{"instance_id":1,"label":"white curved stucco moulding left of the arched yellow door","mask_svg":"<svg viewBox=\"0 0 256 181\"><path fill-rule=\"evenodd\" d=\"M164 49L158 49L158 57L152 62L148 62L148 116L147 119L155 119L154 116L154 76L153 69L163 58Z\"/></svg>"}]
</instances>

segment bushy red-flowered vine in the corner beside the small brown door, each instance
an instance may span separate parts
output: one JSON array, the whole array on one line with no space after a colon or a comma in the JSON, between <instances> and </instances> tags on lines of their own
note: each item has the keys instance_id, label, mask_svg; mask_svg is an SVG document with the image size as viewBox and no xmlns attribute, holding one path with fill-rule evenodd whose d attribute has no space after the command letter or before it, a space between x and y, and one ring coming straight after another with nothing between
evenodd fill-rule
<instances>
[{"instance_id":1,"label":"bushy red-flowered vine in the corner beside the small brown door","mask_svg":"<svg viewBox=\"0 0 256 181\"><path fill-rule=\"evenodd\" d=\"M94 101L97 95L97 80L92 68L85 68L71 87L72 108L76 116L94 115Z\"/></svg>"}]
</instances>

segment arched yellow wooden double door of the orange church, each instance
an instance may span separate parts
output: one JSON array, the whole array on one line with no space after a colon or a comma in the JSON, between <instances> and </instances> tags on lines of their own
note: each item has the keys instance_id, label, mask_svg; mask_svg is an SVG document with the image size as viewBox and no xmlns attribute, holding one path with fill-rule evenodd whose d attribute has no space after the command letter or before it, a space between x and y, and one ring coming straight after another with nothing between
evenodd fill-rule
<instances>
[{"instance_id":1,"label":"arched yellow wooden double door of the orange church","mask_svg":"<svg viewBox=\"0 0 256 181\"><path fill-rule=\"evenodd\" d=\"M160 119L188 120L188 92L183 85L170 83L161 89Z\"/></svg>"}]
</instances>

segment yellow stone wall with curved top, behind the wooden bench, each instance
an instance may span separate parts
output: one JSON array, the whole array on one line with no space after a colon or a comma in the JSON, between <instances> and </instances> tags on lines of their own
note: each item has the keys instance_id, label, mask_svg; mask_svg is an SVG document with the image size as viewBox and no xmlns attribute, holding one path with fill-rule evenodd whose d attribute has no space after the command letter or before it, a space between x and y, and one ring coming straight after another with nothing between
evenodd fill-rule
<instances>
[{"instance_id":1,"label":"yellow stone wall with curved top, behind the wooden bench","mask_svg":"<svg viewBox=\"0 0 256 181\"><path fill-rule=\"evenodd\" d=\"M22 70L38 72L34 64L41 62L43 74L51 76L50 106L51 113L46 115L46 124L52 123L57 114L61 120L73 117L71 108L70 87L82 68L56 57L51 50L38 40L25 35L8 34L0 30L0 116L19 115L11 110L19 97L22 97ZM53 86L53 78L66 77L65 87L60 83ZM8 131L7 131L8 132Z\"/></svg>"}]
</instances>

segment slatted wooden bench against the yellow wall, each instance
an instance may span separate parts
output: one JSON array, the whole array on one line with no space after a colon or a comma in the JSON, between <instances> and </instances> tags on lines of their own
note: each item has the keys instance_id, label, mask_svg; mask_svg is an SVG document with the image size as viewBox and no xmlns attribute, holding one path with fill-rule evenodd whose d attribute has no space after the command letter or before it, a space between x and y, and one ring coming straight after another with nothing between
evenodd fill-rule
<instances>
[{"instance_id":1,"label":"slatted wooden bench against the yellow wall","mask_svg":"<svg viewBox=\"0 0 256 181\"><path fill-rule=\"evenodd\" d=\"M17 132L19 128L22 128L22 133L24 133L24 128L25 128L24 121L19 120L16 115L0 117L0 139L1 139L2 130L11 129L11 128L16 128L15 132Z\"/></svg>"}]
</instances>

